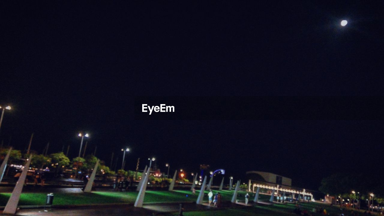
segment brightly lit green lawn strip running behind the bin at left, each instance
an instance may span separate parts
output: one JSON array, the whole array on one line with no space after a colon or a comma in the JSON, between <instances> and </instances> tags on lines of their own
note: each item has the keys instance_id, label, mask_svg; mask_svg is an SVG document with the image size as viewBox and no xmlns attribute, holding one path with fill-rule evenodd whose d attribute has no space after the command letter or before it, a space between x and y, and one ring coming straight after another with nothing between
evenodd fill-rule
<instances>
[{"instance_id":1,"label":"brightly lit green lawn strip running behind the bin at left","mask_svg":"<svg viewBox=\"0 0 384 216\"><path fill-rule=\"evenodd\" d=\"M216 193L217 191L213 191ZM208 193L208 191L205 191ZM231 200L233 191L220 191L222 200ZM194 202L197 199L199 191L193 195L192 191L146 191L144 203L161 203L161 202ZM244 191L239 191L238 199L244 200ZM5 206L10 193L0 193L0 206ZM106 203L134 203L137 192L101 192L92 193L55 193L53 204L55 205L80 205L80 204L106 204ZM251 197L252 198L252 197ZM267 199L263 197L261 199ZM22 193L19 205L43 205L45 204L46 193ZM205 197L205 199L207 199ZM253 198L252 198L253 199Z\"/></svg>"}]
</instances>

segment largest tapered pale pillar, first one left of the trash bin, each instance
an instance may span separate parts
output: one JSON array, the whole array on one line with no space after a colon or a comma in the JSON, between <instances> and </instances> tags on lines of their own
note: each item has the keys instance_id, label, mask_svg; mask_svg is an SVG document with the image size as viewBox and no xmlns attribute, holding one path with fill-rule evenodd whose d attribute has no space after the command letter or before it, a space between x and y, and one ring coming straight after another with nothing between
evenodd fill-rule
<instances>
[{"instance_id":1,"label":"largest tapered pale pillar, first one left of the trash bin","mask_svg":"<svg viewBox=\"0 0 384 216\"><path fill-rule=\"evenodd\" d=\"M27 159L22 174L17 181L15 188L13 188L11 197L8 199L8 203L4 208L3 213L5 214L15 214L17 210L17 204L19 203L20 194L22 194L26 173L28 173L29 165L31 164L32 154Z\"/></svg>"}]
</instances>

